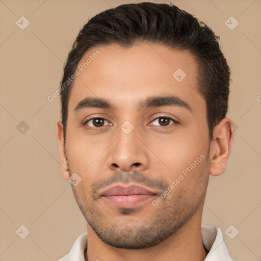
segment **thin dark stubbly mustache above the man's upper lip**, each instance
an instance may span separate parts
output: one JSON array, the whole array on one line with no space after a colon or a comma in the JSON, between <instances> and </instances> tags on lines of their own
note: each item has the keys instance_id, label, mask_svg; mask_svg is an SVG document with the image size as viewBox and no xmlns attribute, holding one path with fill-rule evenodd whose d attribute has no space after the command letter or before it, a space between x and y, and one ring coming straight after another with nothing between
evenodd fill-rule
<instances>
[{"instance_id":1,"label":"thin dark stubbly mustache above the man's upper lip","mask_svg":"<svg viewBox=\"0 0 261 261\"><path fill-rule=\"evenodd\" d=\"M94 199L97 198L99 190L106 188L117 182L122 182L126 184L133 182L137 185L141 185L141 186L144 185L147 186L148 188L159 189L162 191L167 190L167 188L169 187L166 181L159 178L151 178L140 171L131 171L127 173L120 171L120 172L116 172L109 178L101 179L95 184L93 184L92 186L93 189L91 191L92 197Z\"/></svg>"}]
</instances>

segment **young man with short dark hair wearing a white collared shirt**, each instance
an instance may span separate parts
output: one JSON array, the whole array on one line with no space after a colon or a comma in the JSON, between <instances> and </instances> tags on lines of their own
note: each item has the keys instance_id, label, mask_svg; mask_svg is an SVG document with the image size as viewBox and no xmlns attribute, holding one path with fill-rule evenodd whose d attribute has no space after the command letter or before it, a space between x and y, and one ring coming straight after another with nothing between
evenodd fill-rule
<instances>
[{"instance_id":1,"label":"young man with short dark hair wearing a white collared shirt","mask_svg":"<svg viewBox=\"0 0 261 261\"><path fill-rule=\"evenodd\" d=\"M68 56L57 124L62 175L87 233L65 260L232 260L201 227L209 175L233 139L218 38L174 5L93 17Z\"/></svg>"}]
</instances>

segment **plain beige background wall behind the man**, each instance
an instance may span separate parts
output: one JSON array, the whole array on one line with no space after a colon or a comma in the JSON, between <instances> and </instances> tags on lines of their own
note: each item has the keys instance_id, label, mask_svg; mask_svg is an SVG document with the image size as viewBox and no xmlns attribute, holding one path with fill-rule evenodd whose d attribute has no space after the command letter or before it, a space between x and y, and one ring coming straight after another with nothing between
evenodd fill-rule
<instances>
[{"instance_id":1,"label":"plain beige background wall behind the man","mask_svg":"<svg viewBox=\"0 0 261 261\"><path fill-rule=\"evenodd\" d=\"M71 185L60 174L60 101L49 102L47 96L59 87L83 25L124 3L138 1L0 0L1 261L56 260L86 231ZM234 260L261 260L261 1L172 3L221 35L232 71L228 117L238 128L226 172L210 179L202 223L222 229ZM21 16L30 21L24 30L16 25ZM233 30L225 24L230 16L239 21ZM16 128L21 121L29 125L23 134ZM25 239L16 234L21 225L30 230ZM239 230L234 239L225 233L230 225L235 227L231 233Z\"/></svg>"}]
</instances>

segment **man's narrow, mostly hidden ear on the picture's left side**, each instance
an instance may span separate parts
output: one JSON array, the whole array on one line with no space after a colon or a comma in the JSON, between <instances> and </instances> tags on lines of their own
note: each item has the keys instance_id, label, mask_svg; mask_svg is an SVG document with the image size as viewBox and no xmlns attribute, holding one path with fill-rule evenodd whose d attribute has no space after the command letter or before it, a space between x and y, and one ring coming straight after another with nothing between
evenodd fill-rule
<instances>
[{"instance_id":1,"label":"man's narrow, mostly hidden ear on the picture's left side","mask_svg":"<svg viewBox=\"0 0 261 261\"><path fill-rule=\"evenodd\" d=\"M57 139L59 142L62 176L65 179L68 179L70 177L70 175L69 175L68 163L66 160L65 144L64 144L64 137L63 137L63 124L61 121L57 122Z\"/></svg>"}]
</instances>

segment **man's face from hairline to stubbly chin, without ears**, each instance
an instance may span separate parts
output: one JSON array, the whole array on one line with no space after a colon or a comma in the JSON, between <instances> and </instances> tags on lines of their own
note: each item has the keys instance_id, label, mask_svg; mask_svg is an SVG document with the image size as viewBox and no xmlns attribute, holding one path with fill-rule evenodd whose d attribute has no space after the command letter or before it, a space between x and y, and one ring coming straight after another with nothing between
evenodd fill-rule
<instances>
[{"instance_id":1,"label":"man's face from hairline to stubbly chin, without ears","mask_svg":"<svg viewBox=\"0 0 261 261\"><path fill-rule=\"evenodd\" d=\"M82 179L75 199L103 242L156 245L202 210L210 144L197 62L145 43L93 47L80 64L90 56L68 105L67 164Z\"/></svg>"}]
</instances>

